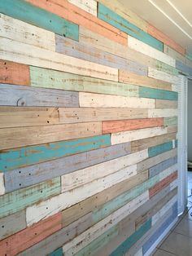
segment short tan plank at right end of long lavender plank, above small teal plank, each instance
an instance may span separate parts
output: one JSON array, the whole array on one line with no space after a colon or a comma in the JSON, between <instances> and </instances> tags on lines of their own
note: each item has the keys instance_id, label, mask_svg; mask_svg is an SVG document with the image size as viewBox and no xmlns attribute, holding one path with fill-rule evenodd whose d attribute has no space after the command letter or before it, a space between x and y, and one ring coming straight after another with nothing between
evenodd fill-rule
<instances>
[{"instance_id":1,"label":"short tan plank at right end of long lavender plank, above small teal plank","mask_svg":"<svg viewBox=\"0 0 192 256\"><path fill-rule=\"evenodd\" d=\"M131 152L137 152L145 148L155 147L161 143L167 143L172 139L176 139L175 133L134 140L131 142Z\"/></svg>"}]
</instances>

